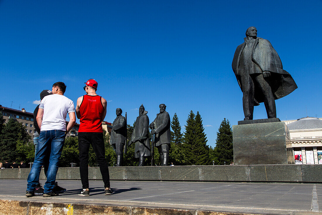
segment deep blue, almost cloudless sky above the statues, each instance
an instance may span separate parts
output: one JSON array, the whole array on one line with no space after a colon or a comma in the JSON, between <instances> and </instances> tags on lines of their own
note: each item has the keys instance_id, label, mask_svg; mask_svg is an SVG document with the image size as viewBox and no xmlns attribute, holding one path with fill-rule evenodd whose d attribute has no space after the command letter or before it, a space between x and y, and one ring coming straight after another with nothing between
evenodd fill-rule
<instances>
[{"instance_id":1,"label":"deep blue, almost cloudless sky above the statues","mask_svg":"<svg viewBox=\"0 0 322 215\"><path fill-rule=\"evenodd\" d=\"M255 26L298 85L276 100L281 120L322 117L322 1L0 1L0 104L33 112L43 89L63 81L74 103L98 81L133 123L141 103L150 121L165 103L181 126L200 112L215 146L223 118L243 120L232 57ZM267 118L264 105L254 119ZM184 128L183 128L184 131Z\"/></svg>"}]
</instances>

